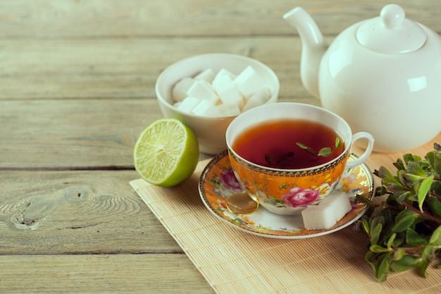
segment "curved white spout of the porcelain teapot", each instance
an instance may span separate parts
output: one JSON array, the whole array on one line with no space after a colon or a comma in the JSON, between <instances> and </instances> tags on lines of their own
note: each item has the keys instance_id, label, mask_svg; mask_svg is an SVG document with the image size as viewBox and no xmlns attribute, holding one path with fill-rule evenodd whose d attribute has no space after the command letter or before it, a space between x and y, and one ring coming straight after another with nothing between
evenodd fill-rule
<instances>
[{"instance_id":1,"label":"curved white spout of the porcelain teapot","mask_svg":"<svg viewBox=\"0 0 441 294\"><path fill-rule=\"evenodd\" d=\"M301 7L288 11L283 16L290 25L296 27L302 39L302 59L300 60L300 78L306 90L320 99L318 91L318 70L321 59L328 45L318 29L316 22Z\"/></svg>"}]
</instances>

